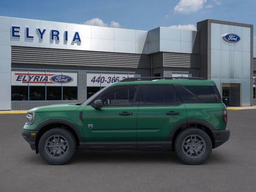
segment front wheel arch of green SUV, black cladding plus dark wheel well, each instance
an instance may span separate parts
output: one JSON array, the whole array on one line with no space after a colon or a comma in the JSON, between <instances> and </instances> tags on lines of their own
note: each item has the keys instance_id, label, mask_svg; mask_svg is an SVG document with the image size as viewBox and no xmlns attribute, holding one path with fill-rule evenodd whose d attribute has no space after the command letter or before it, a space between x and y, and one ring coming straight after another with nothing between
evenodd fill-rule
<instances>
[{"instance_id":1,"label":"front wheel arch of green SUV, black cladding plus dark wheel well","mask_svg":"<svg viewBox=\"0 0 256 192\"><path fill-rule=\"evenodd\" d=\"M69 122L67 120L63 120L63 119L50 119L50 120L46 120L46 121L42 122L36 128L36 130L38 130L38 133L36 134L36 141L35 141L36 153L38 153L38 143L39 143L41 136L46 131L48 131L52 128L57 128L57 127L66 128L67 130L70 130L70 132L72 132L72 134L74 134L74 136L76 138L77 146L79 146L79 148L85 147L84 138L82 137L80 130L74 124L72 124L71 122Z\"/></svg>"}]
</instances>

